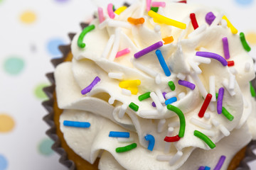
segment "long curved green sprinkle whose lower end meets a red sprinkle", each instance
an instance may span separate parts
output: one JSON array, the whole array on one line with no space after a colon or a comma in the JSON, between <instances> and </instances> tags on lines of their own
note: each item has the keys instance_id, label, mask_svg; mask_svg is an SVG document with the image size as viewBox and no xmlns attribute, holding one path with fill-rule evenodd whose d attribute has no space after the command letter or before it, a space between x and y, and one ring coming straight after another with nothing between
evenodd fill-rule
<instances>
[{"instance_id":1,"label":"long curved green sprinkle whose lower end meets a red sprinkle","mask_svg":"<svg viewBox=\"0 0 256 170\"><path fill-rule=\"evenodd\" d=\"M168 110L173 111L174 113L176 113L178 115L178 118L180 120L180 130L178 132L178 137L183 137L184 133L185 133L185 128L186 128L186 120L185 120L184 114L176 106L172 106L169 104L169 105L167 105L167 108L168 108Z\"/></svg>"}]
</instances>

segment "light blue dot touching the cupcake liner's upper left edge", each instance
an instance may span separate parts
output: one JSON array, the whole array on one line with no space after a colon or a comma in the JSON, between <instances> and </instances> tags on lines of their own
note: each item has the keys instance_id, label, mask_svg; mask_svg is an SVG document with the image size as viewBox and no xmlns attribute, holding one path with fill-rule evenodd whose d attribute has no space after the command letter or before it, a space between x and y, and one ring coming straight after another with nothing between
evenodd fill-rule
<instances>
[{"instance_id":1,"label":"light blue dot touching the cupcake liner's upper left edge","mask_svg":"<svg viewBox=\"0 0 256 170\"><path fill-rule=\"evenodd\" d=\"M61 57L61 52L58 49L58 46L65 45L65 42L60 38L50 39L47 43L47 50L52 57Z\"/></svg>"}]
</instances>

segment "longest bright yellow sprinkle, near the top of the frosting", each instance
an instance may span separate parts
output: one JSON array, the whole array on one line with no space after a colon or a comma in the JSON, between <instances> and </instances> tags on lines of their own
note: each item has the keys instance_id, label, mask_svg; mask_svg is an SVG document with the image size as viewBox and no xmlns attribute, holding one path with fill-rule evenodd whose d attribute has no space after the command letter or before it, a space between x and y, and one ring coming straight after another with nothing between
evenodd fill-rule
<instances>
[{"instance_id":1,"label":"longest bright yellow sprinkle, near the top of the frosting","mask_svg":"<svg viewBox=\"0 0 256 170\"><path fill-rule=\"evenodd\" d=\"M159 13L155 13L154 11L150 10L148 12L148 15L154 18L154 21L159 23L165 23L169 26L175 26L177 28L186 29L186 23L181 23L175 20L172 20L170 18L167 18L165 16L160 15Z\"/></svg>"}]
</instances>

